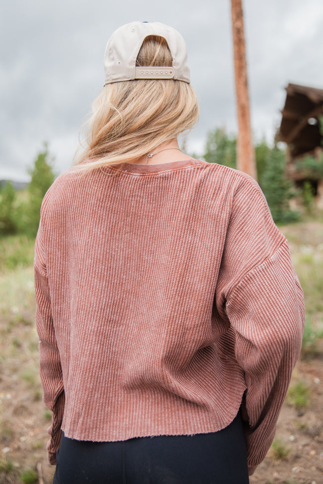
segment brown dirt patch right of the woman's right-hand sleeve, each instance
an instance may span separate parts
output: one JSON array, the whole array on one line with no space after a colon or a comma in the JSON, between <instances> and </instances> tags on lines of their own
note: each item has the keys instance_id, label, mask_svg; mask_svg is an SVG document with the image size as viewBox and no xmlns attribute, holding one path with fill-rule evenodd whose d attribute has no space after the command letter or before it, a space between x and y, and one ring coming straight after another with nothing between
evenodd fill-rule
<instances>
[{"instance_id":1,"label":"brown dirt patch right of the woman's right-hand sleeve","mask_svg":"<svg viewBox=\"0 0 323 484\"><path fill-rule=\"evenodd\" d=\"M275 439L286 447L288 455L275 459L270 449L250 477L250 484L323 484L322 342L315 358L297 362L291 384L295 379L308 385L310 404L296 410L285 401Z\"/></svg>"}]
</instances>

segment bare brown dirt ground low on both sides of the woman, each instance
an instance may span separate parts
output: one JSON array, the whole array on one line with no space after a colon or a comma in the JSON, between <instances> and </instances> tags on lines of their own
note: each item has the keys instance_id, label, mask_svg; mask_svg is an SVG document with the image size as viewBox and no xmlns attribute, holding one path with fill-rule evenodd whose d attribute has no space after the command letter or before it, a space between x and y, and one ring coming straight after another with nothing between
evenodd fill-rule
<instances>
[{"instance_id":1,"label":"bare brown dirt ground low on both sides of the woman","mask_svg":"<svg viewBox=\"0 0 323 484\"><path fill-rule=\"evenodd\" d=\"M22 326L21 332L33 331ZM47 463L46 428L49 414L40 398L40 389L34 381L19 379L19 358L11 359L1 376L2 419L12 425L2 425L0 460L8 458L14 469L0 471L0 483L21 483L22 470L37 469L44 484L50 484L55 468ZM3 366L2 366L3 369ZM323 484L323 342L319 353L310 359L299 360L293 380L302 380L310 389L310 404L296 410L285 402L279 418L276 438L288 455L275 459L269 451L264 462L250 478L251 484ZM27 379L28 380L28 379ZM36 481L37 482L37 481ZM42 481L39 480L41 483ZM72 484L72 483L71 483ZM237 483L239 484L239 483Z\"/></svg>"}]
</instances>

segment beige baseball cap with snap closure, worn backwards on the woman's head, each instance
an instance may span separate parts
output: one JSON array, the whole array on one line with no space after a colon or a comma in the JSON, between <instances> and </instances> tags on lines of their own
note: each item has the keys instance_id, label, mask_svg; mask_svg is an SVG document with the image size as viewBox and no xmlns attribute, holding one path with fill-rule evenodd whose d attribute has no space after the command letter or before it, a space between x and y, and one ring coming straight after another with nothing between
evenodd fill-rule
<instances>
[{"instance_id":1,"label":"beige baseball cap with snap closure, worn backwards on the woman's head","mask_svg":"<svg viewBox=\"0 0 323 484\"><path fill-rule=\"evenodd\" d=\"M136 59L148 35L163 37L168 44L172 67L136 67ZM133 79L175 79L190 82L187 48L177 30L160 22L131 22L110 37L104 53L104 85Z\"/></svg>"}]
</instances>

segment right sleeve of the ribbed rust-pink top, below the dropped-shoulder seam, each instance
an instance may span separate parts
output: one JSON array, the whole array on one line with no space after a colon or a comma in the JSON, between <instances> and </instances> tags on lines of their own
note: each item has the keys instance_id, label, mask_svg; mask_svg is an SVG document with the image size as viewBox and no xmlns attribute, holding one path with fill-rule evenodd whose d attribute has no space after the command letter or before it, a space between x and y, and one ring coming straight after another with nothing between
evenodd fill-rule
<instances>
[{"instance_id":1,"label":"right sleeve of the ribbed rust-pink top, below the dropped-shoulder seam","mask_svg":"<svg viewBox=\"0 0 323 484\"><path fill-rule=\"evenodd\" d=\"M286 243L243 277L226 304L247 387L242 410L250 468L263 460L274 438L302 344L302 304Z\"/></svg>"}]
</instances>

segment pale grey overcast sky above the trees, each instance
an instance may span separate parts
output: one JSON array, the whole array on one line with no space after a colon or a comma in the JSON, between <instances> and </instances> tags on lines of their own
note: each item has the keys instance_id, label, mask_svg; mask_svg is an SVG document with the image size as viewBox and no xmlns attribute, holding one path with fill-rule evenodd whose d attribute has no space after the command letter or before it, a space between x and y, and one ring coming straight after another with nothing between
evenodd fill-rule
<instances>
[{"instance_id":1,"label":"pale grey overcast sky above the trees","mask_svg":"<svg viewBox=\"0 0 323 484\"><path fill-rule=\"evenodd\" d=\"M237 132L230 0L2 0L0 179L27 180L43 142L68 169L84 117L103 86L106 42L120 25L160 21L188 47L200 119L187 138ZM288 82L323 88L323 1L243 0L251 125L272 141Z\"/></svg>"}]
</instances>

